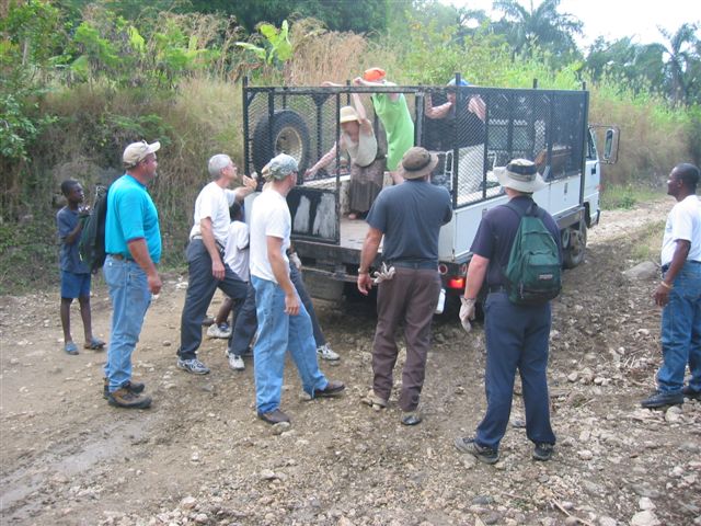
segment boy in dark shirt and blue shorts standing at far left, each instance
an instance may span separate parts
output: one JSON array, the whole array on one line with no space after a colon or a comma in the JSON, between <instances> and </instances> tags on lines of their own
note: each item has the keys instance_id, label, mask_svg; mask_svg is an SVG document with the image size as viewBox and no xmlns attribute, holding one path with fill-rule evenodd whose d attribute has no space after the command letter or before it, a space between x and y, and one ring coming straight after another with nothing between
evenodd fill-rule
<instances>
[{"instance_id":1,"label":"boy in dark shirt and blue shorts standing at far left","mask_svg":"<svg viewBox=\"0 0 701 526\"><path fill-rule=\"evenodd\" d=\"M90 268L80 260L78 242L83 229L82 218L88 215L83 203L83 188L78 181L61 183L61 193L67 205L56 214L58 238L61 242L61 325L64 327L64 351L78 354L78 346L70 334L70 305L74 298L80 302L80 316L85 332L84 348L95 351L104 347L105 342L92 335L90 318Z\"/></svg>"}]
</instances>

